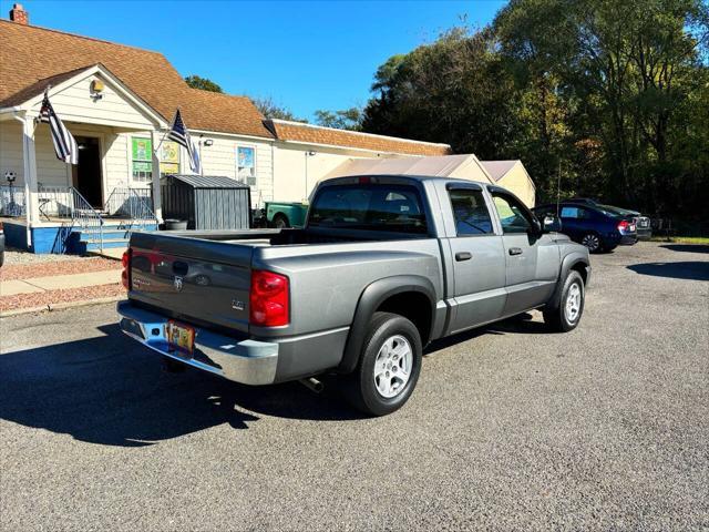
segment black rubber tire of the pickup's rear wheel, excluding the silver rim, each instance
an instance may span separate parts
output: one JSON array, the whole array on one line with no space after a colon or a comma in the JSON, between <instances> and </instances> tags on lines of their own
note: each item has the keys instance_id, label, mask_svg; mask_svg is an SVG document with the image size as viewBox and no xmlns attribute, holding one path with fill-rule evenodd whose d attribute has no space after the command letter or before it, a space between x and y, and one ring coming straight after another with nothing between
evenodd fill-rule
<instances>
[{"instance_id":1,"label":"black rubber tire of the pickup's rear wheel, excluding the silver rim","mask_svg":"<svg viewBox=\"0 0 709 532\"><path fill-rule=\"evenodd\" d=\"M377 388L374 365L384 342L397 336L408 341L412 364L405 385L395 391L394 397L384 397ZM371 416L386 416L398 410L413 393L421 372L422 357L421 335L411 321L398 314L374 313L364 336L357 369L346 377L345 395L348 401L354 408Z\"/></svg>"}]
</instances>

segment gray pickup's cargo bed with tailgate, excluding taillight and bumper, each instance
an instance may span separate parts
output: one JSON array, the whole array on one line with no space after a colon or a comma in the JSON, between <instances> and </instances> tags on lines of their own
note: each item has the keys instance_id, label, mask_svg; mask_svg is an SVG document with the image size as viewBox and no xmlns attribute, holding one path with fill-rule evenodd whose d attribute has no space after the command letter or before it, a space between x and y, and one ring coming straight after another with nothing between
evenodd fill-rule
<instances>
[{"instance_id":1,"label":"gray pickup's cargo bed with tailgate, excluding taillight and bumper","mask_svg":"<svg viewBox=\"0 0 709 532\"><path fill-rule=\"evenodd\" d=\"M427 244L411 252L412 238ZM439 244L428 235L330 228L134 233L131 250L133 303L235 334L274 334L249 325L254 269L290 279L290 313L299 319L277 328L281 336L347 326L361 290L390 275L393 263L402 274L434 272L442 286Z\"/></svg>"}]
</instances>

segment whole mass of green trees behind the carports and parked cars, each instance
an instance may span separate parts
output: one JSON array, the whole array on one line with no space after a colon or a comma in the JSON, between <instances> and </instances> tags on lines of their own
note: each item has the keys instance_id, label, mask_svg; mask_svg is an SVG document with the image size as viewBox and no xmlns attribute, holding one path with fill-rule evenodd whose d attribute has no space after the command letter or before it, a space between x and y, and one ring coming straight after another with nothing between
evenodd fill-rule
<instances>
[{"instance_id":1,"label":"whole mass of green trees behind the carports and parked cars","mask_svg":"<svg viewBox=\"0 0 709 532\"><path fill-rule=\"evenodd\" d=\"M389 58L361 125L521 158L537 201L561 172L563 195L701 217L708 13L702 0L511 0L487 28Z\"/></svg>"}]
</instances>

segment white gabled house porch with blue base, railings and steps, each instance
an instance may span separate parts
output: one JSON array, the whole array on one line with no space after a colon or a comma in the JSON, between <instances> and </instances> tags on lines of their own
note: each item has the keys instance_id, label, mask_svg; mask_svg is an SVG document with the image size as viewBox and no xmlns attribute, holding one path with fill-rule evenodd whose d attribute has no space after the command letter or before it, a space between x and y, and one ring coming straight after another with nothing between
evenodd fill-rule
<instances>
[{"instance_id":1,"label":"white gabled house porch with blue base, railings and steps","mask_svg":"<svg viewBox=\"0 0 709 532\"><path fill-rule=\"evenodd\" d=\"M41 86L40 86L41 85ZM0 110L0 217L8 244L34 253L122 247L156 228L161 162L152 146L167 124L100 64L43 80ZM43 91L76 140L78 164L59 161L37 120ZM131 142L140 140L140 154ZM135 149L133 150L135 151Z\"/></svg>"}]
</instances>

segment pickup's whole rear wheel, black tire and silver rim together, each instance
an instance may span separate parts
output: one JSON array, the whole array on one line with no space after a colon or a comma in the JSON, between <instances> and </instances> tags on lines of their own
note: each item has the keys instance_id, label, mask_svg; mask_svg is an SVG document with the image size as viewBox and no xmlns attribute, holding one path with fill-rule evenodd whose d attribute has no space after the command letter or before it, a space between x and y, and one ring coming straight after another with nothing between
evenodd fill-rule
<instances>
[{"instance_id":1,"label":"pickup's whole rear wheel, black tire and silver rim together","mask_svg":"<svg viewBox=\"0 0 709 532\"><path fill-rule=\"evenodd\" d=\"M415 326L397 314L374 313L346 395L359 410L384 416L401 408L417 386L423 347Z\"/></svg>"}]
</instances>

